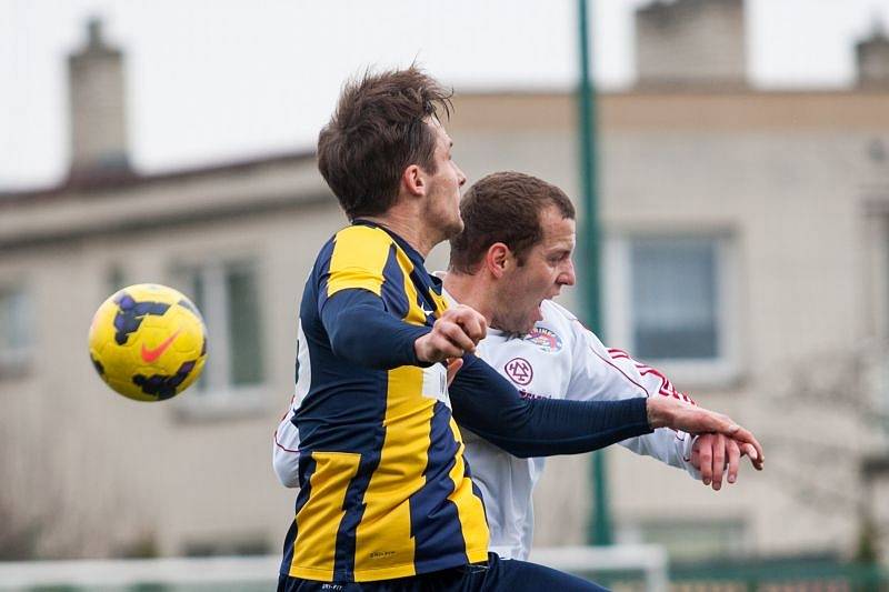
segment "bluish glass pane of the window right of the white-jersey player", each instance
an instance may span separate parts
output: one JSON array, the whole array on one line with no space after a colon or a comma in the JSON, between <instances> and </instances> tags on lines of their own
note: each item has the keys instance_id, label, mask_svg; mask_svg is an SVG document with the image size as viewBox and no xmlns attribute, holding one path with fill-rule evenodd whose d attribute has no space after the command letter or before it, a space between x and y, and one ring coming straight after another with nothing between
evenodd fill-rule
<instances>
[{"instance_id":1,"label":"bluish glass pane of the window right of the white-jersey player","mask_svg":"<svg viewBox=\"0 0 889 592\"><path fill-rule=\"evenodd\" d=\"M641 359L719 355L716 240L637 239L632 337Z\"/></svg>"}]
</instances>

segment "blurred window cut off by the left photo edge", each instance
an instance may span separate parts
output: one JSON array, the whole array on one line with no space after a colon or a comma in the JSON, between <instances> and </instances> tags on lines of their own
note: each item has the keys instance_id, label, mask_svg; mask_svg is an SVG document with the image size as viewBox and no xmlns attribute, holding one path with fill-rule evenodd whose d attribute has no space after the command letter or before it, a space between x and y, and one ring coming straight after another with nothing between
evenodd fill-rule
<instances>
[{"instance_id":1,"label":"blurred window cut off by the left photo edge","mask_svg":"<svg viewBox=\"0 0 889 592\"><path fill-rule=\"evenodd\" d=\"M23 290L0 287L0 378L22 373L33 345L31 303Z\"/></svg>"}]
</instances>

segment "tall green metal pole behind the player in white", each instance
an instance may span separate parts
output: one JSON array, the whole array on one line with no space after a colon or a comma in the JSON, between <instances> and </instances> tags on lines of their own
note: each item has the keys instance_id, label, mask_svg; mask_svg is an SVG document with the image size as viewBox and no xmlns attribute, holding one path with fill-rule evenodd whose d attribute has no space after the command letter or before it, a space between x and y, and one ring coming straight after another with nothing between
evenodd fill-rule
<instances>
[{"instance_id":1,"label":"tall green metal pole behind the player in white","mask_svg":"<svg viewBox=\"0 0 889 592\"><path fill-rule=\"evenodd\" d=\"M596 174L596 92L590 78L590 34L587 0L578 0L580 26L580 88L578 89L580 137L580 171L583 198L583 297L587 323L602 334L599 291L599 218ZM593 512L589 521L588 540L592 544L611 544L611 512L608 503L608 471L606 451L592 454Z\"/></svg>"}]
</instances>

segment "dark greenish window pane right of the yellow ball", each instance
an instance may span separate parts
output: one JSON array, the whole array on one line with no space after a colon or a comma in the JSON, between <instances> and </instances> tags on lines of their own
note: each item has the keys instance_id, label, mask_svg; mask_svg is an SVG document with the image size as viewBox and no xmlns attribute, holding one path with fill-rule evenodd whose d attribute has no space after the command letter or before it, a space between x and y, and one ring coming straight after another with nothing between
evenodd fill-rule
<instances>
[{"instance_id":1,"label":"dark greenish window pane right of the yellow ball","mask_svg":"<svg viewBox=\"0 0 889 592\"><path fill-rule=\"evenodd\" d=\"M252 268L239 265L226 273L229 322L229 380L233 385L262 381L259 294Z\"/></svg>"}]
</instances>

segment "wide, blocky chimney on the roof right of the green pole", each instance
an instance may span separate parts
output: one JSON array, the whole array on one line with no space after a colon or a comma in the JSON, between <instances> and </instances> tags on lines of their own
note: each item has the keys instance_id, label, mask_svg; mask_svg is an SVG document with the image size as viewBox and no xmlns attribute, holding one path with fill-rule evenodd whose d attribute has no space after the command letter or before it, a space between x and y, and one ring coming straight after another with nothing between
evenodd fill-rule
<instances>
[{"instance_id":1,"label":"wide, blocky chimney on the roof right of the green pole","mask_svg":"<svg viewBox=\"0 0 889 592\"><path fill-rule=\"evenodd\" d=\"M743 0L655 2L636 12L639 86L743 86Z\"/></svg>"}]
</instances>

